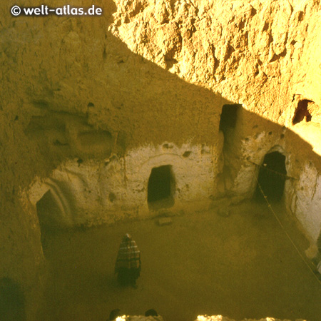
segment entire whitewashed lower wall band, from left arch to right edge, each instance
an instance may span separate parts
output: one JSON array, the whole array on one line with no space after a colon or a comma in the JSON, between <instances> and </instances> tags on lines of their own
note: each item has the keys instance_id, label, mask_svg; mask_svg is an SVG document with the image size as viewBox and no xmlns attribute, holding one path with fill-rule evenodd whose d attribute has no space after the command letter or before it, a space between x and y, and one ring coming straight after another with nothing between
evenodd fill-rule
<instances>
[{"instance_id":1,"label":"entire whitewashed lower wall band, from left arch to right edge","mask_svg":"<svg viewBox=\"0 0 321 321\"><path fill-rule=\"evenodd\" d=\"M233 193L250 197L256 186L258 166L272 151L285 153L285 147L267 140L267 133L248 138L241 143L240 170L233 184ZM58 220L66 226L98 225L118 220L157 215L148 209L148 179L152 168L171 165L175 178L173 213L185 213L208 208L218 191L216 183L222 170L221 149L203 145L145 146L128 151L125 157L111 156L104 161L61 164L46 180L36 179L26 191L30 203L51 190L61 213ZM292 175L295 162L286 155L287 175ZM253 163L249 162L252 161ZM295 170L297 173L297 170ZM296 176L296 175L294 175ZM321 230L321 175L306 161L299 180L285 183L285 204L299 220L312 246L316 246Z\"/></svg>"}]
</instances>

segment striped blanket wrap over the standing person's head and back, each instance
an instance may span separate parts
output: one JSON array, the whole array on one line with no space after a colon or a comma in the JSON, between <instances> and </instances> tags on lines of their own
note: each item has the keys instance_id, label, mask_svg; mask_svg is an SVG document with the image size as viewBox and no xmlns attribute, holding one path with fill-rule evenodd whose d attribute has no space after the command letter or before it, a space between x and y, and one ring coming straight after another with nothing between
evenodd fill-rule
<instances>
[{"instance_id":1,"label":"striped blanket wrap over the standing person's head and back","mask_svg":"<svg viewBox=\"0 0 321 321\"><path fill-rule=\"evenodd\" d=\"M119 246L115 270L125 267L127 269L138 269L141 267L141 251L136 242L131 238L123 238Z\"/></svg>"}]
</instances>

